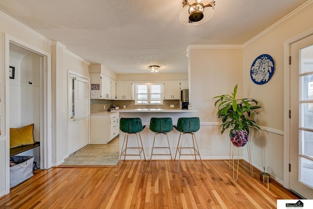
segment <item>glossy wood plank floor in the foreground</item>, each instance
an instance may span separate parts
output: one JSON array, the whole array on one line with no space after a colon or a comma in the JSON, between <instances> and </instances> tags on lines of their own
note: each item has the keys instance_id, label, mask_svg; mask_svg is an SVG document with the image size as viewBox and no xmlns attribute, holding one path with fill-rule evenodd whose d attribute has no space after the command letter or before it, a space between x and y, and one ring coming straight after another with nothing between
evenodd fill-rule
<instances>
[{"instance_id":1,"label":"glossy wood plank floor in the foreground","mask_svg":"<svg viewBox=\"0 0 313 209\"><path fill-rule=\"evenodd\" d=\"M169 161L122 162L116 167L51 168L36 170L34 176L12 188L0 199L0 209L270 209L277 199L298 199L275 181L250 176L249 166L240 162L238 181L232 179L228 161L183 161L179 174ZM177 165L177 162L176 162Z\"/></svg>"}]
</instances>

